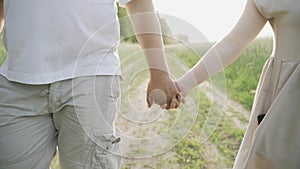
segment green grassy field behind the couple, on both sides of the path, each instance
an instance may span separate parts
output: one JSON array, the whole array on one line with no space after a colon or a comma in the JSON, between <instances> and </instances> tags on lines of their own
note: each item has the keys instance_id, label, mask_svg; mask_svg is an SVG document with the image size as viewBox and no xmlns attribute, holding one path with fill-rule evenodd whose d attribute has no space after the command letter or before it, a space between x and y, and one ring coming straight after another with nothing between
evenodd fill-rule
<instances>
[{"instance_id":1,"label":"green grassy field behind the couple, on both sides of the path","mask_svg":"<svg viewBox=\"0 0 300 169\"><path fill-rule=\"evenodd\" d=\"M203 55L207 51L208 44L196 44L196 52ZM139 47L136 44L122 44L120 46L120 58L126 59L128 54L136 51ZM264 62L271 54L272 40L257 39L232 65L225 69L226 94L241 103L250 110L253 97ZM176 56L188 67L192 67L199 57L187 48L180 48L176 45L166 47L167 52L175 53ZM6 52L0 49L0 64L4 60ZM201 103L198 107L199 114L197 122L189 134L175 147L170 150L171 157L157 156L147 160L127 160L122 166L123 169L130 168L183 168L183 169L218 169L230 168L233 165L235 155L242 140L244 129L235 125L233 120L237 118L242 123L247 119L241 116L240 112L232 110L232 115L224 115L215 132L205 144L200 144L198 137L209 113L210 101L204 93L199 93ZM142 166L142 167L141 167ZM59 169L57 156L52 162L53 169Z\"/></svg>"}]
</instances>

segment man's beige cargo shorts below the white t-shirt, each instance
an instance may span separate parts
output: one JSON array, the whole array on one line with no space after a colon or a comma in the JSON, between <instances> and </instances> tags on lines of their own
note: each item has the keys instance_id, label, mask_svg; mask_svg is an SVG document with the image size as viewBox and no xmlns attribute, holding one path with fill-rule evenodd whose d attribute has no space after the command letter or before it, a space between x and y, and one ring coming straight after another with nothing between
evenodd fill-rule
<instances>
[{"instance_id":1,"label":"man's beige cargo shorts below the white t-shirt","mask_svg":"<svg viewBox=\"0 0 300 169\"><path fill-rule=\"evenodd\" d=\"M119 76L89 76L47 85L0 76L0 169L117 169Z\"/></svg>"}]
</instances>

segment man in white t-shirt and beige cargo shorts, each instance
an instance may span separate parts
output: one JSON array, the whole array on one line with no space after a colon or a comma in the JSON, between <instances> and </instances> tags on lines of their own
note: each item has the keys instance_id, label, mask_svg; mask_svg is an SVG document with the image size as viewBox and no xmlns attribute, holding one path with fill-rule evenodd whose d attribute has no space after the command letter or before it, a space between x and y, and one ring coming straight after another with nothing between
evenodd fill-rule
<instances>
[{"instance_id":1,"label":"man in white t-shirt and beige cargo shorts","mask_svg":"<svg viewBox=\"0 0 300 169\"><path fill-rule=\"evenodd\" d=\"M160 104L177 107L170 105L180 94L168 85L173 81L152 1L120 3L145 50L148 95L167 91ZM115 1L1 0L0 7L8 51L0 68L0 168L49 168L57 146L63 169L119 168Z\"/></svg>"}]
</instances>

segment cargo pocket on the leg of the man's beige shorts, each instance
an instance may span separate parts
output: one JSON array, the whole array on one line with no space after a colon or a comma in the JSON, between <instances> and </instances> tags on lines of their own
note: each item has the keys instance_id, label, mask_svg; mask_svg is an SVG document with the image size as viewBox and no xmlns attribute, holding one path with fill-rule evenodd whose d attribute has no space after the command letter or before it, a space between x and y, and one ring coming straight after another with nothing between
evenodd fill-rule
<instances>
[{"instance_id":1,"label":"cargo pocket on the leg of the man's beige shorts","mask_svg":"<svg viewBox=\"0 0 300 169\"><path fill-rule=\"evenodd\" d=\"M113 134L98 136L96 147L96 168L118 169L121 163L120 142L121 138Z\"/></svg>"}]
</instances>

